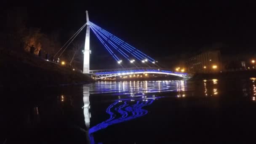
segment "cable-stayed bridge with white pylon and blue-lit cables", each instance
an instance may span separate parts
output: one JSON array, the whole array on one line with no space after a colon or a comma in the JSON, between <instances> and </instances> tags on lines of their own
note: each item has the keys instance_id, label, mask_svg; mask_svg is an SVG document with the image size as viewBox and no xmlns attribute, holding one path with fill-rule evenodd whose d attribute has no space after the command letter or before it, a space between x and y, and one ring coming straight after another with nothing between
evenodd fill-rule
<instances>
[{"instance_id":1,"label":"cable-stayed bridge with white pylon and blue-lit cables","mask_svg":"<svg viewBox=\"0 0 256 144\"><path fill-rule=\"evenodd\" d=\"M87 26L87 27L86 27ZM67 46L75 39L75 37L86 27L85 34L85 49L83 59L83 73L94 75L96 79L102 79L106 77L131 75L131 74L165 74L175 75L178 77L190 78L192 77L189 73L184 72L173 72L170 69L163 69L157 65L157 61L142 51L136 49L132 45L125 43L115 35L112 35L105 29L102 29L98 25L89 21L88 11L86 11L86 23L73 35L67 43L61 48L65 51ZM96 35L100 43L113 57L116 63L122 67L119 69L101 69L101 70L90 70L90 30ZM61 51L56 53L55 56ZM58 55L60 56L63 51ZM58 57L59 58L59 57Z\"/></svg>"}]
</instances>

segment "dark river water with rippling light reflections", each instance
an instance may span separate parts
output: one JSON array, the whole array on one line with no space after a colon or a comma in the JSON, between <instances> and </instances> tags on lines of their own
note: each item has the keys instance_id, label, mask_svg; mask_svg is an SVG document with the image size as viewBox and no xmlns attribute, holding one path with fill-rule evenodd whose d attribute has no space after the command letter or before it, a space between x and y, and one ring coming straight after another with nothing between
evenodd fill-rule
<instances>
[{"instance_id":1,"label":"dark river water with rippling light reflections","mask_svg":"<svg viewBox=\"0 0 256 144\"><path fill-rule=\"evenodd\" d=\"M13 91L2 103L6 144L255 141L254 77L99 81Z\"/></svg>"}]
</instances>

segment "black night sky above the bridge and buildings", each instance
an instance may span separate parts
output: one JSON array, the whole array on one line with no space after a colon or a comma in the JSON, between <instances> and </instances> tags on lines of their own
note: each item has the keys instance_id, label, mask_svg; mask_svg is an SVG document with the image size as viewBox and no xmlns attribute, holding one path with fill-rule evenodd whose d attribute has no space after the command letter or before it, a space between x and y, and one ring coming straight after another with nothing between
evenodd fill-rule
<instances>
[{"instance_id":1,"label":"black night sky above the bridge and buildings","mask_svg":"<svg viewBox=\"0 0 256 144\"><path fill-rule=\"evenodd\" d=\"M254 3L226 3L177 0L105 1L101 3L35 3L28 8L30 27L48 33L62 30L67 39L71 30L90 21L160 61L182 58L202 48L217 45L222 53L255 53L256 7ZM84 39L84 33L80 39ZM107 52L91 33L92 51L105 57ZM103 50L99 52L99 50ZM94 53L95 55L95 53Z\"/></svg>"}]
</instances>

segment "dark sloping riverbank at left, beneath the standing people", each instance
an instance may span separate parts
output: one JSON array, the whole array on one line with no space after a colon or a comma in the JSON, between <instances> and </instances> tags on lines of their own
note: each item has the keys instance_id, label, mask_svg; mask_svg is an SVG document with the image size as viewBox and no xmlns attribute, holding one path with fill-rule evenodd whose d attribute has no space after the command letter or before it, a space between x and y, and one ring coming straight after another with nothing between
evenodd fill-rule
<instances>
[{"instance_id":1,"label":"dark sloping riverbank at left, beneath the standing people","mask_svg":"<svg viewBox=\"0 0 256 144\"><path fill-rule=\"evenodd\" d=\"M88 75L30 53L0 48L0 86L41 87L94 82Z\"/></svg>"}]
</instances>

